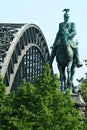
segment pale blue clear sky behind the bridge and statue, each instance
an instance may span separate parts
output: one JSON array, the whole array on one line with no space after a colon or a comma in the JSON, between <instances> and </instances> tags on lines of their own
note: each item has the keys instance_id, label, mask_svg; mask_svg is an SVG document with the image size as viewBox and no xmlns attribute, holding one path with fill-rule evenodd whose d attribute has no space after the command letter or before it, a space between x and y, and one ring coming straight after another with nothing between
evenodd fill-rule
<instances>
[{"instance_id":1,"label":"pale blue clear sky behind the bridge and statue","mask_svg":"<svg viewBox=\"0 0 87 130\"><path fill-rule=\"evenodd\" d=\"M43 32L47 45L53 45L59 23L63 22L63 9L70 9L70 21L76 24L79 57L83 67L76 68L74 83L87 73L83 62L87 59L87 0L0 0L0 23L34 23ZM56 60L54 73L58 73Z\"/></svg>"}]
</instances>

